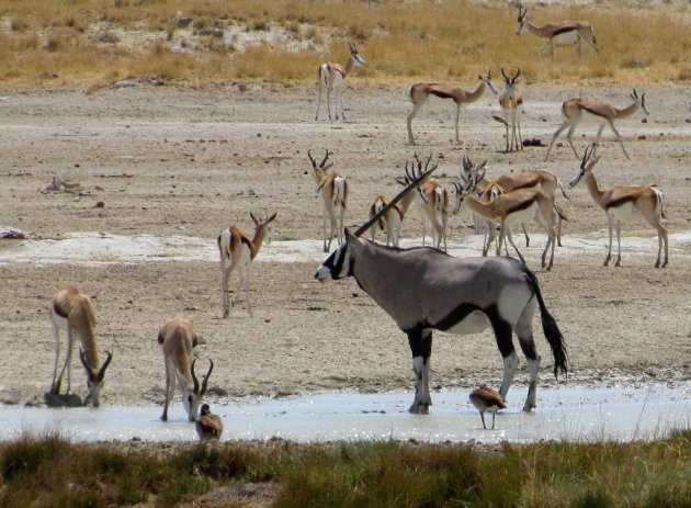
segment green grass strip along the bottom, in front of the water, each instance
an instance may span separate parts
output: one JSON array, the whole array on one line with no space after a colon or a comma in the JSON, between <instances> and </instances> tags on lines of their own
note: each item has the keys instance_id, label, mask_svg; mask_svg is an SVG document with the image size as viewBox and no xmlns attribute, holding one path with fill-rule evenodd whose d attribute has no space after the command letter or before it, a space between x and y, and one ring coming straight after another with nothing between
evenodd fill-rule
<instances>
[{"instance_id":1,"label":"green grass strip along the bottom, in front of the water","mask_svg":"<svg viewBox=\"0 0 691 508\"><path fill-rule=\"evenodd\" d=\"M146 452L145 450L149 450ZM0 506L175 506L234 483L277 483L277 507L691 506L691 431L654 442L463 444L287 441L177 451L0 444Z\"/></svg>"}]
</instances>

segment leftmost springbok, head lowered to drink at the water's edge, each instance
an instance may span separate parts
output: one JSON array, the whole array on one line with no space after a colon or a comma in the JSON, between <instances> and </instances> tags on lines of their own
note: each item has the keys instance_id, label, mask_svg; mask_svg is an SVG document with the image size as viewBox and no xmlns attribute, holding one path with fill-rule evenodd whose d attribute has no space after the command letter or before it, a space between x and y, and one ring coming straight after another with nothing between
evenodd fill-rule
<instances>
[{"instance_id":1,"label":"leftmost springbok, head lowered to drink at the water's edge","mask_svg":"<svg viewBox=\"0 0 691 508\"><path fill-rule=\"evenodd\" d=\"M50 302L50 324L55 336L55 364L53 366L53 383L50 392L59 395L63 375L67 369L67 392L71 388L71 362L75 346L75 335L79 340L79 359L87 371L87 387L89 393L83 404L98 407L101 404L101 390L103 388L105 370L113 360L113 354L107 351L106 359L101 365L99 359L99 345L95 336L95 315L91 301L78 287L67 285L58 291ZM60 355L60 330L67 332L67 351L65 364L57 375L58 358Z\"/></svg>"}]
</instances>

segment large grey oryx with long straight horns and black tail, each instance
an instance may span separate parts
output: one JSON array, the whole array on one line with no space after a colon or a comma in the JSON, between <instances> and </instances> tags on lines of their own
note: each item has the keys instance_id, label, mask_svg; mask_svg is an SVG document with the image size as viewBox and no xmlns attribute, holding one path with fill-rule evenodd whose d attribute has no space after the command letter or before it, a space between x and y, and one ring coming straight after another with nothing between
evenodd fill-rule
<instances>
[{"instance_id":1,"label":"large grey oryx with long straight horns and black tail","mask_svg":"<svg viewBox=\"0 0 691 508\"><path fill-rule=\"evenodd\" d=\"M395 205L429 172L420 174L389 202ZM384 213L386 207L382 210ZM505 258L454 258L438 249L394 249L358 238L378 221L372 217L319 267L320 282L353 276L408 336L416 375L410 413L427 414L432 404L429 391L432 331L476 334L491 326L503 358L499 393L506 399L519 363L512 335L528 359L530 385L523 410L536 407L540 355L532 319L540 306L542 327L554 355L554 374L567 372L564 337L547 311L535 274L519 261Z\"/></svg>"}]
</instances>

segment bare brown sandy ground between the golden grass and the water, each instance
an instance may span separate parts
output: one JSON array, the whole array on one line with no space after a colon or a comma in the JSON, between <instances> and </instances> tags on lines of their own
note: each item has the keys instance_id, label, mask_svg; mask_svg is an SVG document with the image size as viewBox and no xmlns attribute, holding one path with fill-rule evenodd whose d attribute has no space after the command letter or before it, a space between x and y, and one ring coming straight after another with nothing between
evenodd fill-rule
<instances>
[{"instance_id":1,"label":"bare brown sandy ground between the golden grass and the water","mask_svg":"<svg viewBox=\"0 0 691 508\"><path fill-rule=\"evenodd\" d=\"M271 249L282 241L320 238L309 148L317 154L331 150L335 169L348 178L352 192L348 225L362 223L375 195L397 190L394 178L414 153L406 145L406 87L355 84L346 92L349 122L315 122L311 87L0 91L0 225L19 228L32 239L59 239L75 232L179 235L206 239L213 249L223 227L250 228L250 211L279 214L275 244L264 247L267 259L262 261L260 253L252 273L253 317L240 307L229 319L219 318L219 270L213 257L139 258L97 266L5 259L0 263L0 400L43 403L55 354L48 302L67 283L91 295L101 348L114 353L103 404L161 403L163 362L157 329L178 313L207 339L201 354L216 362L212 399L321 390L411 390L405 335L353 280L321 285L313 279L317 262L269 260ZM643 123L638 113L619 123L632 159L626 160L605 133L597 176L602 185L657 184L665 192L669 267L653 268L655 232L645 223L625 226L630 244L622 267L602 267L607 218L582 184L567 191L570 201L559 200L569 222L553 271L540 270L540 236L524 249L566 338L569 382L678 383L691 376L691 92L668 87L646 91L648 121ZM529 83L524 137L548 142L562 121L562 101L577 94L628 103L624 89L564 90ZM466 153L476 160L489 159L490 176L546 169L565 183L573 178L578 161L565 143L548 162L543 162L545 147L502 153L503 128L490 118L497 112L490 97L463 111L462 145L451 142L452 104L432 100L416 118L417 150L440 158L438 174L446 188L452 189ZM587 126L577 132L579 149L594 131ZM38 192L53 176L81 188ZM450 242L475 241L471 224L468 212L452 216ZM411 213L404 237L420 234L421 216ZM1 240L0 258L21 241ZM579 241L596 248L578 249ZM319 248L315 250L320 259ZM553 383L539 319L534 328L543 355L542 380ZM432 366L434 386L498 384L501 376L489 331L467 337L438 334ZM73 390L83 395L77 359L72 374ZM517 383L524 384L525 379L521 370Z\"/></svg>"}]
</instances>

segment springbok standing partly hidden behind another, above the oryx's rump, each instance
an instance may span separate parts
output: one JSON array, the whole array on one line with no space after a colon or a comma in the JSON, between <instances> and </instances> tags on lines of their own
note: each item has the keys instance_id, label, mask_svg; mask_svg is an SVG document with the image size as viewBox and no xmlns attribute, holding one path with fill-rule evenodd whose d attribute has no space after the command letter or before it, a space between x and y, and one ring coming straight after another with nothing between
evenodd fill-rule
<instances>
[{"instance_id":1,"label":"springbok standing partly hidden behind another, above the oryx's rump","mask_svg":"<svg viewBox=\"0 0 691 508\"><path fill-rule=\"evenodd\" d=\"M463 166L461 167L461 180L467 181L473 172L477 172L477 168L469 159L467 154L463 157ZM487 178L483 179L479 183L480 201L489 201L489 196L496 195L497 193L505 193L516 191L517 189L540 189L545 191L548 194L552 194L556 197L557 188L562 191L562 195L568 200L569 197L566 195L564 191L564 185L562 181L552 174L548 171L519 171L516 173L502 174L495 180L488 180ZM555 201L556 203L556 201ZM458 195L456 195L456 204L454 206L454 213L458 211ZM557 206L555 204L555 206ZM557 206L558 210L558 206ZM557 246L562 247L562 223L564 219L564 213L558 210L557 212ZM525 230L525 226L523 225L523 234L525 235L525 247L530 246L530 237L528 236L528 232Z\"/></svg>"}]
</instances>

